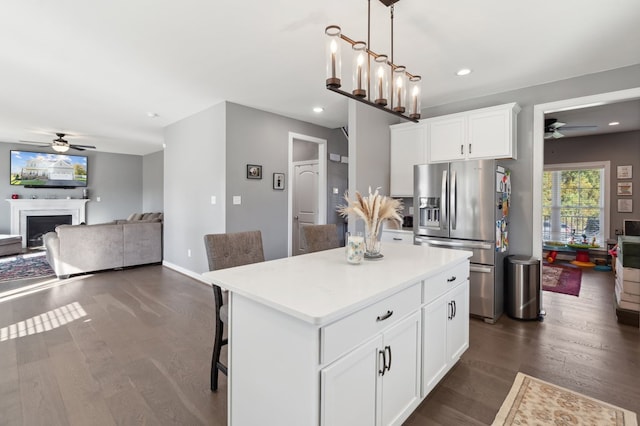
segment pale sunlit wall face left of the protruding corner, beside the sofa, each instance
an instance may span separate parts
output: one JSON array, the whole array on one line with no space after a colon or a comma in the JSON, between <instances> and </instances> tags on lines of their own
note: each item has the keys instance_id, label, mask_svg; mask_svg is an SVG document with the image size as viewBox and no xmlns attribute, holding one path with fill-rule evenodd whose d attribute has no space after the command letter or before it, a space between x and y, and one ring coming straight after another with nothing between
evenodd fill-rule
<instances>
[{"instance_id":1,"label":"pale sunlit wall face left of the protruding corner, beside the sofa","mask_svg":"<svg viewBox=\"0 0 640 426\"><path fill-rule=\"evenodd\" d=\"M220 103L164 131L164 261L187 272L209 269L203 236L225 232L225 111Z\"/></svg>"}]
</instances>

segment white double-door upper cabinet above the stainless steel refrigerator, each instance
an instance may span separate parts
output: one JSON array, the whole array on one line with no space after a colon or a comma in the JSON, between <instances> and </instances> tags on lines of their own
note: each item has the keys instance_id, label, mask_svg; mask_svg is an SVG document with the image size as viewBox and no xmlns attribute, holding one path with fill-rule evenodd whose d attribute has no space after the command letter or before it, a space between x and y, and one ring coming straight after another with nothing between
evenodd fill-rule
<instances>
[{"instance_id":1,"label":"white double-door upper cabinet above the stainless steel refrigerator","mask_svg":"<svg viewBox=\"0 0 640 426\"><path fill-rule=\"evenodd\" d=\"M446 161L517 158L516 103L427 120L427 157Z\"/></svg>"}]
</instances>

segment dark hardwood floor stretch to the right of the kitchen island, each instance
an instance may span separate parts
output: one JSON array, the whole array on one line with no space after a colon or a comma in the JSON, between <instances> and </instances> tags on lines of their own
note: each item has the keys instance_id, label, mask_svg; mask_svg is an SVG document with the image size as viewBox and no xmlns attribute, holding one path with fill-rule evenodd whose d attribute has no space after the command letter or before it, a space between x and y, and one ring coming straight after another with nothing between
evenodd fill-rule
<instances>
[{"instance_id":1,"label":"dark hardwood floor stretch to the right of the kitchen island","mask_svg":"<svg viewBox=\"0 0 640 426\"><path fill-rule=\"evenodd\" d=\"M640 414L640 329L618 324L613 272L583 269L580 296L543 292L542 322L472 319L469 349L407 425L490 425L516 373Z\"/></svg>"}]
</instances>

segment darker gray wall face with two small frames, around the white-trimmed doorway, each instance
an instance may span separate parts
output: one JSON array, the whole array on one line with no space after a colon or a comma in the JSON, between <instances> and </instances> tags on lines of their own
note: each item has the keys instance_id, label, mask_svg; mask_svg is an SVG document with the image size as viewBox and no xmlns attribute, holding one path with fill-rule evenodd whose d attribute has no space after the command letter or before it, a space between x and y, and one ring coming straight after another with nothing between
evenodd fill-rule
<instances>
[{"instance_id":1,"label":"darker gray wall face with two small frames, around the white-trimmed doorway","mask_svg":"<svg viewBox=\"0 0 640 426\"><path fill-rule=\"evenodd\" d=\"M265 258L287 256L288 193L274 190L273 173L288 172L289 132L327 140L327 152L346 155L346 143L339 129L328 129L304 121L227 103L227 229L226 232L259 229ZM261 180L246 178L246 165L262 165ZM327 173L345 165L328 162ZM346 182L328 178L327 191L333 186L345 188ZM342 192L342 191L341 191ZM241 205L233 205L233 196L242 197ZM333 223L334 197L327 197L327 222Z\"/></svg>"}]
</instances>

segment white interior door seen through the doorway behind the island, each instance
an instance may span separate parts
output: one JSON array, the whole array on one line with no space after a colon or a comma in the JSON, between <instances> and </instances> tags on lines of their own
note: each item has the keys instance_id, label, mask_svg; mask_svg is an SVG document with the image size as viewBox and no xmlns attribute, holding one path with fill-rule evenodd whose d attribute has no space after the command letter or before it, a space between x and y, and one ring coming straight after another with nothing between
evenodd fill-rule
<instances>
[{"instance_id":1,"label":"white interior door seen through the doorway behind the island","mask_svg":"<svg viewBox=\"0 0 640 426\"><path fill-rule=\"evenodd\" d=\"M318 162L295 163L293 166L293 251L306 253L302 227L318 223Z\"/></svg>"}]
</instances>

